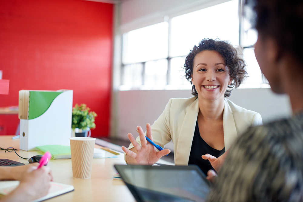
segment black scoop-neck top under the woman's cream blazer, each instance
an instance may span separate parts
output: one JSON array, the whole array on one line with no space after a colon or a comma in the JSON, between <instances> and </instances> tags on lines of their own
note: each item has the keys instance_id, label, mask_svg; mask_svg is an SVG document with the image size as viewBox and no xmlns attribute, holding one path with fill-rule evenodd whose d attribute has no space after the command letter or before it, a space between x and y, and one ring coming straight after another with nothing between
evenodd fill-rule
<instances>
[{"instance_id":1,"label":"black scoop-neck top under the woman's cream blazer","mask_svg":"<svg viewBox=\"0 0 303 202\"><path fill-rule=\"evenodd\" d=\"M202 159L203 154L210 154L214 157L219 157L225 152L225 147L219 151L209 146L200 136L198 121L196 122L196 128L194 138L191 143L191 151L189 154L188 164L196 164L207 175L207 171L214 168L211 166L208 160Z\"/></svg>"}]
</instances>

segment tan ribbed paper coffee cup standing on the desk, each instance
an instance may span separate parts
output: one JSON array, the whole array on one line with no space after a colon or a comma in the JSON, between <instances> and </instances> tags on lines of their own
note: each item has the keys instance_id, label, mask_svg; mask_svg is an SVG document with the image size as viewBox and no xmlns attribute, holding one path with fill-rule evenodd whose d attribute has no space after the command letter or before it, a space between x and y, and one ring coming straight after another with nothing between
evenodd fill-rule
<instances>
[{"instance_id":1,"label":"tan ribbed paper coffee cup standing on the desk","mask_svg":"<svg viewBox=\"0 0 303 202\"><path fill-rule=\"evenodd\" d=\"M92 174L92 163L96 138L71 137L73 177L87 179Z\"/></svg>"}]
</instances>

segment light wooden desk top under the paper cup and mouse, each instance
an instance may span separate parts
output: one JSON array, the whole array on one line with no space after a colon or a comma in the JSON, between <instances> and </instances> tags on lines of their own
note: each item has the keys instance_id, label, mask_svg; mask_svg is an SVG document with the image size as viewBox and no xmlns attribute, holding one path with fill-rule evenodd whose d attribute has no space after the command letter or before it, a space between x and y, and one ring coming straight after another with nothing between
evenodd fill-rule
<instances>
[{"instance_id":1,"label":"light wooden desk top under the paper cup and mouse","mask_svg":"<svg viewBox=\"0 0 303 202\"><path fill-rule=\"evenodd\" d=\"M0 147L14 147L18 149L17 153L24 157L41 154L38 151L19 151L19 139L12 140L11 135L0 137ZM98 148L98 145L96 145ZM0 151L0 158L11 159L24 164L28 164L28 160L18 157L15 152ZM48 166L52 169L55 182L71 184L75 187L73 192L54 197L47 201L123 201L135 202L135 198L128 190L122 180L113 180L112 176L116 173L114 164L125 164L123 154L118 158L94 158L92 167L92 177L89 179L75 179L72 174L72 160L51 159Z\"/></svg>"}]
</instances>

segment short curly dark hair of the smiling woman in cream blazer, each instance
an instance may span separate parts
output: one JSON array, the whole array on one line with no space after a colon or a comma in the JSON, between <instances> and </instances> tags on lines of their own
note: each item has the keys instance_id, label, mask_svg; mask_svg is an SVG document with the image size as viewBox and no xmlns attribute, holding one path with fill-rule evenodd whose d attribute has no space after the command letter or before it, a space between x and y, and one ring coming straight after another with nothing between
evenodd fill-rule
<instances>
[{"instance_id":1,"label":"short curly dark hair of the smiling woman in cream blazer","mask_svg":"<svg viewBox=\"0 0 303 202\"><path fill-rule=\"evenodd\" d=\"M231 44L226 41L220 41L218 38L209 39L204 38L198 44L198 46L194 46L194 48L190 51L190 53L185 58L185 77L192 84L191 76L193 71L193 63L195 56L202 51L217 51L220 53L222 58L225 61L225 65L229 69L229 76L232 78L232 83L228 85L230 90L226 90L224 97L227 98L231 94L232 88L238 88L242 83L243 79L247 76L246 72L246 64L243 59L239 57L239 53L237 49L235 49ZM198 95L195 85L192 86L191 94Z\"/></svg>"}]
</instances>

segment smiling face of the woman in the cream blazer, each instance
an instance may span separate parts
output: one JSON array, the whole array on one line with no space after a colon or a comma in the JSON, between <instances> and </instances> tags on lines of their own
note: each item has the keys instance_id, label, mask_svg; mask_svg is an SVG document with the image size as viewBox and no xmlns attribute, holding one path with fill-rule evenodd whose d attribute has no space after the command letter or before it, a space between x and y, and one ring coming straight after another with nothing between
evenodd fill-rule
<instances>
[{"instance_id":1,"label":"smiling face of the woman in the cream blazer","mask_svg":"<svg viewBox=\"0 0 303 202\"><path fill-rule=\"evenodd\" d=\"M224 99L227 85L231 84L232 79L220 53L202 51L194 58L191 82L199 98L214 101Z\"/></svg>"}]
</instances>

